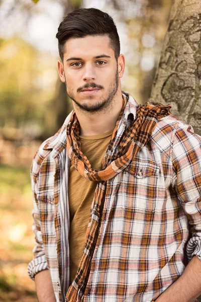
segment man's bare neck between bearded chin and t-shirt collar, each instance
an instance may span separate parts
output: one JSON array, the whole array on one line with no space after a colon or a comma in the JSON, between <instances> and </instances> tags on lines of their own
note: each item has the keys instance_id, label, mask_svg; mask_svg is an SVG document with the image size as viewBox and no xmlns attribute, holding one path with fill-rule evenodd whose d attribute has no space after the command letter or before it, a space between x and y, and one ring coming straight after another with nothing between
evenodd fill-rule
<instances>
[{"instance_id":1,"label":"man's bare neck between bearded chin and t-shirt collar","mask_svg":"<svg viewBox=\"0 0 201 302\"><path fill-rule=\"evenodd\" d=\"M108 110L103 112L84 112L74 107L77 119L80 124L81 135L98 135L111 131L115 128L117 119L122 110L123 100L122 93L118 92Z\"/></svg>"}]
</instances>

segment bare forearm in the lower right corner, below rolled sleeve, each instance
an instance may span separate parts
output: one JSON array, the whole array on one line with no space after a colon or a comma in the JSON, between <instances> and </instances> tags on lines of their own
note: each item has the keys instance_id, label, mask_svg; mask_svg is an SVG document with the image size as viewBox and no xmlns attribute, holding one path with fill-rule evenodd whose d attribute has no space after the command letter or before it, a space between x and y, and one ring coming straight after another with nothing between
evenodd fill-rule
<instances>
[{"instance_id":1,"label":"bare forearm in the lower right corner, below rolled sleeve","mask_svg":"<svg viewBox=\"0 0 201 302\"><path fill-rule=\"evenodd\" d=\"M156 302L191 302L201 294L201 260L194 256L182 275L168 287Z\"/></svg>"}]
</instances>

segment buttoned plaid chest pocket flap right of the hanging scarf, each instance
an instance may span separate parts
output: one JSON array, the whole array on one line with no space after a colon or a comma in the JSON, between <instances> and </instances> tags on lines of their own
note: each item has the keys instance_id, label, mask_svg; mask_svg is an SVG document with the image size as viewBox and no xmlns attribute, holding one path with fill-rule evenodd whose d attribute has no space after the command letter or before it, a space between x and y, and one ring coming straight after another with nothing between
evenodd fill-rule
<instances>
[{"instance_id":1,"label":"buttoned plaid chest pocket flap right of the hanging scarf","mask_svg":"<svg viewBox=\"0 0 201 302\"><path fill-rule=\"evenodd\" d=\"M133 161L127 168L126 171L133 174L137 178L145 178L148 176L156 176L159 174L159 166L156 163L149 162L139 162Z\"/></svg>"}]
</instances>

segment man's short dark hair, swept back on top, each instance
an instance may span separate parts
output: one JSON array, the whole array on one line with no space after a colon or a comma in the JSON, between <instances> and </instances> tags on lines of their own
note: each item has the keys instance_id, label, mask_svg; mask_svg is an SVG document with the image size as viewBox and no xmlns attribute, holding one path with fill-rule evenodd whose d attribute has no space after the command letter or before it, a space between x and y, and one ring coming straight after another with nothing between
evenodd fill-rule
<instances>
[{"instance_id":1,"label":"man's short dark hair, swept back on top","mask_svg":"<svg viewBox=\"0 0 201 302\"><path fill-rule=\"evenodd\" d=\"M108 35L110 46L118 60L120 55L120 39L113 18L98 9L79 9L69 13L58 27L59 55L63 61L65 42L70 38L83 38L85 36Z\"/></svg>"}]
</instances>

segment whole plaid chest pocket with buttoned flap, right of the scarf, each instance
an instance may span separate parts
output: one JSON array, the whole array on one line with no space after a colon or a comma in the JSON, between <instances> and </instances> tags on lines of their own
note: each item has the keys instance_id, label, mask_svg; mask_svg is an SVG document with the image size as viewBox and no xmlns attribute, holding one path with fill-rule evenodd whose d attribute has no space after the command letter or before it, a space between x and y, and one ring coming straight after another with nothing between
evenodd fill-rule
<instances>
[{"instance_id":1,"label":"whole plaid chest pocket with buttoned flap, right of the scarf","mask_svg":"<svg viewBox=\"0 0 201 302\"><path fill-rule=\"evenodd\" d=\"M154 212L158 200L159 166L153 161L133 161L122 173L118 200L135 213Z\"/></svg>"}]
</instances>

